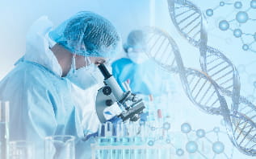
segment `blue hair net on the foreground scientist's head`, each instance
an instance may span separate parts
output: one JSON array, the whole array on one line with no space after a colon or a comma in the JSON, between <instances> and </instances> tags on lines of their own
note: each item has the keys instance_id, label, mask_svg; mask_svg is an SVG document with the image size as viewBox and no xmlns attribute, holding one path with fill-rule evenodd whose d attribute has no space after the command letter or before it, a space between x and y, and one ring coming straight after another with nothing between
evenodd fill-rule
<instances>
[{"instance_id":1,"label":"blue hair net on the foreground scientist's head","mask_svg":"<svg viewBox=\"0 0 256 159\"><path fill-rule=\"evenodd\" d=\"M120 48L120 35L106 18L81 11L62 22L49 37L72 54L109 58Z\"/></svg>"}]
</instances>

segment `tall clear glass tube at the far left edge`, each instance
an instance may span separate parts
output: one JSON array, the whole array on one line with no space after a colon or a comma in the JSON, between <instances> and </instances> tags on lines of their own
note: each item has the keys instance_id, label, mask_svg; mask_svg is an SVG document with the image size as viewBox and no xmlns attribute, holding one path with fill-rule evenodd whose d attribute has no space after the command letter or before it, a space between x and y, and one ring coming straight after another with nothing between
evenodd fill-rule
<instances>
[{"instance_id":1,"label":"tall clear glass tube at the far left edge","mask_svg":"<svg viewBox=\"0 0 256 159\"><path fill-rule=\"evenodd\" d=\"M0 101L0 158L9 158L9 102Z\"/></svg>"}]
</instances>

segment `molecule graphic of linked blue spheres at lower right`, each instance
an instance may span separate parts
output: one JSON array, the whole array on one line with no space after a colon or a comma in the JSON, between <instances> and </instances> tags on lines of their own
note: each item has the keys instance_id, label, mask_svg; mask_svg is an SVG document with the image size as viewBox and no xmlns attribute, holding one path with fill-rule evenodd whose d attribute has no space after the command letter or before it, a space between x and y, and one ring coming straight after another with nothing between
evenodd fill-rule
<instances>
[{"instance_id":1,"label":"molecule graphic of linked blue spheres at lower right","mask_svg":"<svg viewBox=\"0 0 256 159\"><path fill-rule=\"evenodd\" d=\"M149 140L148 145L153 146L157 143L165 143L174 148L174 155L177 157L189 158L233 158L233 146L226 147L225 142L220 140L220 134L226 136L225 132L220 131L220 127L206 131L203 128L192 129L191 124L181 124L180 132L170 132L170 123L166 122L161 128L151 127L151 132L161 129L163 136ZM229 152L229 154L227 153Z\"/></svg>"}]
</instances>

